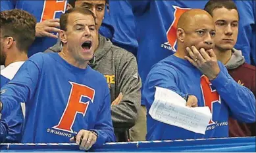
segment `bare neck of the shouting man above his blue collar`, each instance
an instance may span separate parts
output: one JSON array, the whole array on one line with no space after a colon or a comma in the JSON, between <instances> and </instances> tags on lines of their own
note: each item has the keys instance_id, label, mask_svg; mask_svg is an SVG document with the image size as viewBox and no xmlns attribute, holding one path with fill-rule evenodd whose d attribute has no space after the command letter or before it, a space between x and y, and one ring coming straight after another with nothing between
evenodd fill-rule
<instances>
[{"instance_id":1,"label":"bare neck of the shouting man above his blue collar","mask_svg":"<svg viewBox=\"0 0 256 153\"><path fill-rule=\"evenodd\" d=\"M63 50L59 52L59 56L61 56L61 58L63 58L70 65L73 65L74 67L78 67L80 69L86 69L88 65L88 61L78 61L65 48L63 48Z\"/></svg>"}]
</instances>

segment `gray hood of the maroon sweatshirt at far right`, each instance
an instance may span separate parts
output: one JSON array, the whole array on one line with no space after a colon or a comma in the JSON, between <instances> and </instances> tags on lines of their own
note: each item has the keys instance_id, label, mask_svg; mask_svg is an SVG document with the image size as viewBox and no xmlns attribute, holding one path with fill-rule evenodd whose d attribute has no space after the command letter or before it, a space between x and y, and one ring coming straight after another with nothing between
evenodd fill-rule
<instances>
[{"instance_id":1,"label":"gray hood of the maroon sweatshirt at far right","mask_svg":"<svg viewBox=\"0 0 256 153\"><path fill-rule=\"evenodd\" d=\"M245 62L244 57L242 56L241 50L236 50L235 48L232 49L232 56L228 63L226 63L225 67L226 69L236 69L240 65L242 65Z\"/></svg>"}]
</instances>

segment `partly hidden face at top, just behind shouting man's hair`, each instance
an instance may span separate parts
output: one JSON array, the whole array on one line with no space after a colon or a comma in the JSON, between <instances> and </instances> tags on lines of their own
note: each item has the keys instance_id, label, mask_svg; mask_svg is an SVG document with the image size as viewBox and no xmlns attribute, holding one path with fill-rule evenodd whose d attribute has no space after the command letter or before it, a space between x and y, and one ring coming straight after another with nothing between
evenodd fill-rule
<instances>
[{"instance_id":1,"label":"partly hidden face at top, just behind shouting man's hair","mask_svg":"<svg viewBox=\"0 0 256 153\"><path fill-rule=\"evenodd\" d=\"M93 12L96 16L96 27L97 29L99 29L99 27L101 27L101 23L104 17L104 13L105 13L105 5L106 5L106 1L105 0L101 0L101 1L97 1L97 0L87 0L87 1L83 1L83 0L78 0L75 3L75 7L84 7L86 9L91 10L91 12Z\"/></svg>"}]
</instances>

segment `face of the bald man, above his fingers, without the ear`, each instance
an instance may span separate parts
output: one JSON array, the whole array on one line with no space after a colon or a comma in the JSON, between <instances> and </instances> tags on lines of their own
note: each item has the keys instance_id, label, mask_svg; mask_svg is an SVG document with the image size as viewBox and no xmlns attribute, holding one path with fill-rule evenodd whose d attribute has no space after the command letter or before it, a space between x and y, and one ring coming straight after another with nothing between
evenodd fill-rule
<instances>
[{"instance_id":1,"label":"face of the bald man, above his fingers, without the ear","mask_svg":"<svg viewBox=\"0 0 256 153\"><path fill-rule=\"evenodd\" d=\"M211 16L207 14L198 14L190 20L190 25L184 29L186 37L184 45L186 47L195 46L197 50L213 48L213 38L215 37L215 26Z\"/></svg>"}]
</instances>

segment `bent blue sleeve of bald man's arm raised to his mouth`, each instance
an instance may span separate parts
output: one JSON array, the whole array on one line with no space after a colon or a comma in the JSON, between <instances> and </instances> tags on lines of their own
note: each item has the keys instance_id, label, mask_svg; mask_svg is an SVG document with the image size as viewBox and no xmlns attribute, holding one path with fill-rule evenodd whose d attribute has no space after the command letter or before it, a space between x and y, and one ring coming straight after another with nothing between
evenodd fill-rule
<instances>
[{"instance_id":1,"label":"bent blue sleeve of bald man's arm raised to his mouth","mask_svg":"<svg viewBox=\"0 0 256 153\"><path fill-rule=\"evenodd\" d=\"M222 63L218 65L220 73L211 83L230 108L231 115L241 122L255 122L255 96L251 90L238 84Z\"/></svg>"}]
</instances>

